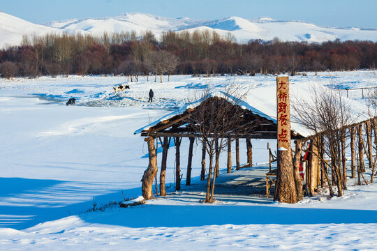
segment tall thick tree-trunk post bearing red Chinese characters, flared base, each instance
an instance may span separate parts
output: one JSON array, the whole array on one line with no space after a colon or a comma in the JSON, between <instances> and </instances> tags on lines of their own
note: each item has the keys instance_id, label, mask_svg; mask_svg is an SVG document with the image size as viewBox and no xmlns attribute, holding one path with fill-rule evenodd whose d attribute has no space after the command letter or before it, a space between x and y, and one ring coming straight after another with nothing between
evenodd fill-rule
<instances>
[{"instance_id":1,"label":"tall thick tree-trunk post bearing red Chinese characters, flared base","mask_svg":"<svg viewBox=\"0 0 377 251\"><path fill-rule=\"evenodd\" d=\"M276 77L277 113L277 175L274 200L296 203L297 192L293 175L292 151L290 146L290 102L288 76Z\"/></svg>"}]
</instances>

